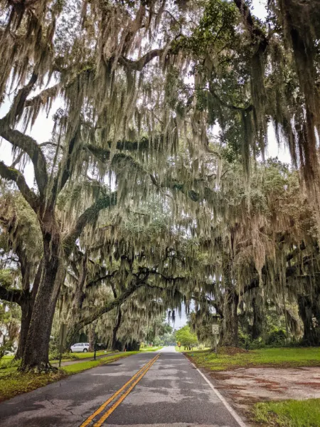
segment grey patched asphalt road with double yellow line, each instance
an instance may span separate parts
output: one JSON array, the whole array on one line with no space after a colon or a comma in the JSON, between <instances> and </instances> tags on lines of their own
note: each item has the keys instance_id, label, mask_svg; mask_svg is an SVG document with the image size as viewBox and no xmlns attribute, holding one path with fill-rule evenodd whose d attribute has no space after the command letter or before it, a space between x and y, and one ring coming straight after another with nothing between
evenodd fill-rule
<instances>
[{"instance_id":1,"label":"grey patched asphalt road with double yellow line","mask_svg":"<svg viewBox=\"0 0 320 427\"><path fill-rule=\"evenodd\" d=\"M183 354L167 348L16 396L0 404L0 426L244 427L227 406Z\"/></svg>"}]
</instances>

